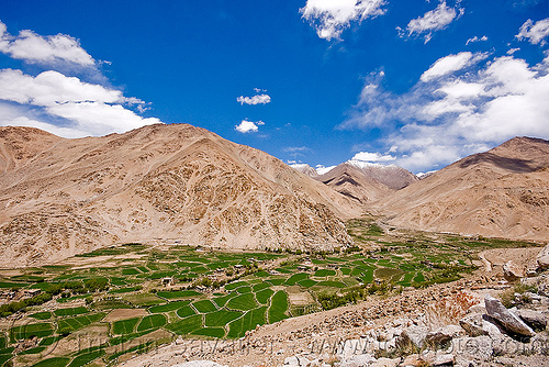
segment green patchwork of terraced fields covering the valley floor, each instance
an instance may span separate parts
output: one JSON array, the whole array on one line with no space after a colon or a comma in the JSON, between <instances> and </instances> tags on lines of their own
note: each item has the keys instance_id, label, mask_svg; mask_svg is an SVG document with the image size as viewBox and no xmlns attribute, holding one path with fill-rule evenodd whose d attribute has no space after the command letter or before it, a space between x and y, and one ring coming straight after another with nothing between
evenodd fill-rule
<instances>
[{"instance_id":1,"label":"green patchwork of terraced fields covering the valley floor","mask_svg":"<svg viewBox=\"0 0 549 367\"><path fill-rule=\"evenodd\" d=\"M0 334L0 366L105 365L177 336L238 338L257 325L344 305L405 287L451 281L474 269L484 248L528 246L444 234L381 231L349 222L358 244L337 253L225 253L170 244L99 249L69 265L0 270L0 290L24 301L0 307L21 314ZM97 260L100 259L100 260ZM44 304L47 304L47 309ZM93 335L79 349L65 342ZM90 336L91 337L91 336ZM24 340L34 345L15 353ZM58 343L72 345L51 356Z\"/></svg>"}]
</instances>

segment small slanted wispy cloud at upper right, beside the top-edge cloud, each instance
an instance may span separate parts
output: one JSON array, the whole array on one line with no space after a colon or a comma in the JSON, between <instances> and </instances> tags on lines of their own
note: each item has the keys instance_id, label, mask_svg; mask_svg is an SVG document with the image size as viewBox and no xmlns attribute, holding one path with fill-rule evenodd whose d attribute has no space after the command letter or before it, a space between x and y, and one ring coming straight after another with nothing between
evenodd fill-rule
<instances>
[{"instance_id":1,"label":"small slanted wispy cloud at upper right, beside the top-edge cloud","mask_svg":"<svg viewBox=\"0 0 549 367\"><path fill-rule=\"evenodd\" d=\"M455 8L450 8L446 4L446 1L441 1L438 7L413 19L406 25L406 30L396 27L401 36L419 36L424 34L425 43L429 42L433 37L433 32L446 29L451 22L460 18L464 12L463 8L459 8L459 2Z\"/></svg>"}]
</instances>

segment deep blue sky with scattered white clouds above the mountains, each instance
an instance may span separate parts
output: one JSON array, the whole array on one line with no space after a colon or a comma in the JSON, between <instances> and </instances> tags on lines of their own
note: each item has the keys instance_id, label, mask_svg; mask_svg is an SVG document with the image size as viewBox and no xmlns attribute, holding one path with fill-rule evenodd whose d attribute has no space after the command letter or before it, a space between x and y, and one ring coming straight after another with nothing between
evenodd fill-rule
<instances>
[{"instance_id":1,"label":"deep blue sky with scattered white clouds above the mountains","mask_svg":"<svg viewBox=\"0 0 549 367\"><path fill-rule=\"evenodd\" d=\"M439 169L549 138L549 1L4 1L0 125Z\"/></svg>"}]
</instances>

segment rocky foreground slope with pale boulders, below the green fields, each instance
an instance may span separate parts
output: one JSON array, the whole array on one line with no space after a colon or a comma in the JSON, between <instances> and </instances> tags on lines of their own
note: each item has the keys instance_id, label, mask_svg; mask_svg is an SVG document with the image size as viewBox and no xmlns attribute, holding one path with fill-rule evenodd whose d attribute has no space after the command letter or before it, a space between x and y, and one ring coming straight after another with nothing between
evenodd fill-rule
<instances>
[{"instance_id":1,"label":"rocky foreground slope with pale boulders, below the green fields","mask_svg":"<svg viewBox=\"0 0 549 367\"><path fill-rule=\"evenodd\" d=\"M533 262L264 325L239 341L177 340L122 365L549 366L549 245L536 271Z\"/></svg>"}]
</instances>

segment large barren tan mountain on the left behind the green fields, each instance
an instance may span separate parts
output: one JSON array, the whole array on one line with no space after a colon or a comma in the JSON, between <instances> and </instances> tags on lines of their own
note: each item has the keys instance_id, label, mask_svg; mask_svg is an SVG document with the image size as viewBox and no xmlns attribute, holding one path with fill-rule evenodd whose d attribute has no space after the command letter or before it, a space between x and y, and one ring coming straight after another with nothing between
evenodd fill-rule
<instances>
[{"instance_id":1,"label":"large barren tan mountain on the left behind the green fields","mask_svg":"<svg viewBox=\"0 0 549 367\"><path fill-rule=\"evenodd\" d=\"M78 140L0 127L0 266L153 238L341 246L341 219L360 214L277 158L187 124Z\"/></svg>"}]
</instances>

